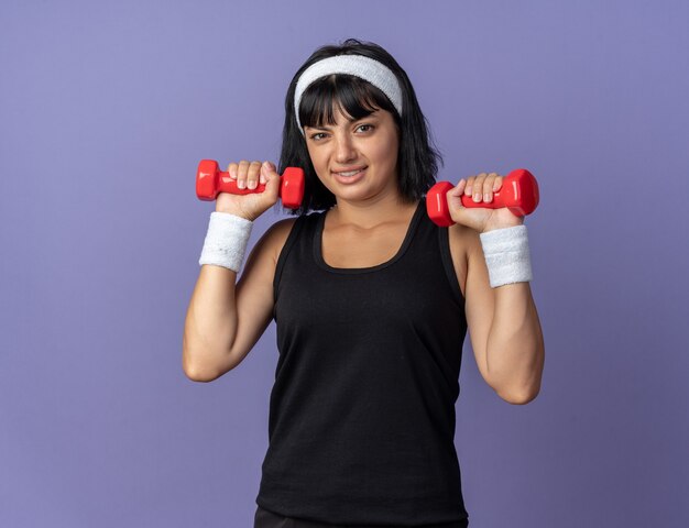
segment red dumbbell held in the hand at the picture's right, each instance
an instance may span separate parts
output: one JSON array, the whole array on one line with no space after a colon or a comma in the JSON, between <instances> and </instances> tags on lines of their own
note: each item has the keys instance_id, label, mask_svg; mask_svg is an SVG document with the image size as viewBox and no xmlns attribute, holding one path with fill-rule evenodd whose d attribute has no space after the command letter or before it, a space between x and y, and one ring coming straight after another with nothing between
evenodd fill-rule
<instances>
[{"instance_id":1,"label":"red dumbbell held in the hand at the picture's right","mask_svg":"<svg viewBox=\"0 0 689 528\"><path fill-rule=\"evenodd\" d=\"M449 182L439 182L426 194L426 210L428 217L440 227L452 226L447 204L447 193L455 187ZM493 193L493 200L473 201L471 196L462 195L462 206L500 209L506 207L517 217L531 215L538 205L538 183L534 175L525 168L512 170L502 180L502 187Z\"/></svg>"}]
</instances>

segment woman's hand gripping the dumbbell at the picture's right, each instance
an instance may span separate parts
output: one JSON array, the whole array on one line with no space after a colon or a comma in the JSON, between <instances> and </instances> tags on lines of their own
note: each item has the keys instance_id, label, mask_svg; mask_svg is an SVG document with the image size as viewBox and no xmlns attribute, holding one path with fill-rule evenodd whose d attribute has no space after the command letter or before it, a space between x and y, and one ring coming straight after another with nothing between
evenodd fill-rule
<instances>
[{"instance_id":1,"label":"woman's hand gripping the dumbbell at the picture's right","mask_svg":"<svg viewBox=\"0 0 689 528\"><path fill-rule=\"evenodd\" d=\"M486 207L464 207L462 195L473 196L474 202L492 202L493 193L502 187L502 176L497 173L480 173L477 176L462 178L447 194L447 204L450 217L456 223L461 223L480 233L494 229L512 228L524 223L524 217L517 217L506 207L489 209Z\"/></svg>"}]
</instances>

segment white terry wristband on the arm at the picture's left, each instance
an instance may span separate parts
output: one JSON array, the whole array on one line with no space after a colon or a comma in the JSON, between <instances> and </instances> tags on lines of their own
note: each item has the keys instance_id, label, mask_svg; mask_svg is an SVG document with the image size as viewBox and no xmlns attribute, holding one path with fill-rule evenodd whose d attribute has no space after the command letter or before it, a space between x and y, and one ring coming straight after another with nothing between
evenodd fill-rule
<instances>
[{"instance_id":1,"label":"white terry wristband on the arm at the picture's left","mask_svg":"<svg viewBox=\"0 0 689 528\"><path fill-rule=\"evenodd\" d=\"M253 222L229 212L210 213L199 265L215 264L239 272Z\"/></svg>"}]
</instances>

